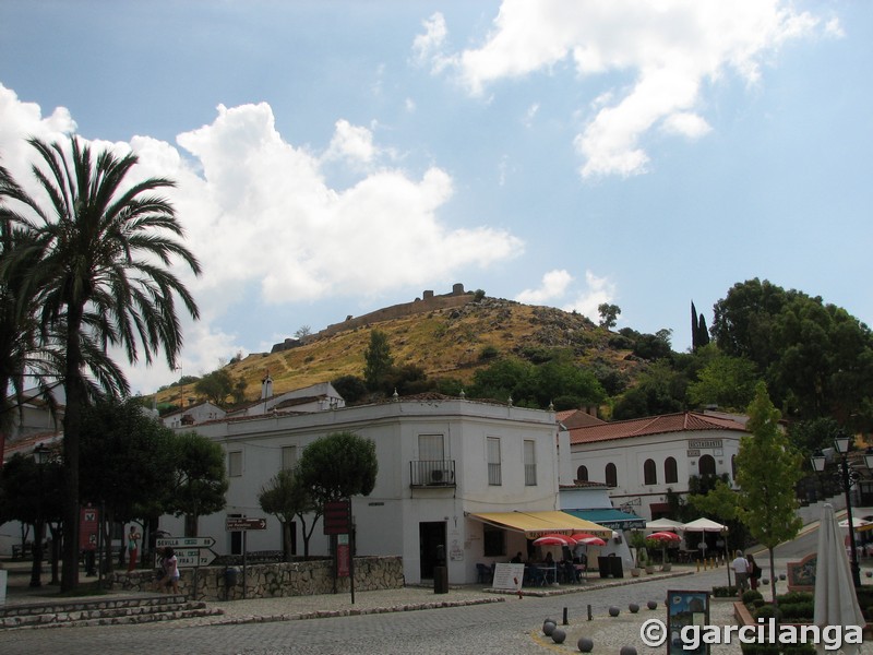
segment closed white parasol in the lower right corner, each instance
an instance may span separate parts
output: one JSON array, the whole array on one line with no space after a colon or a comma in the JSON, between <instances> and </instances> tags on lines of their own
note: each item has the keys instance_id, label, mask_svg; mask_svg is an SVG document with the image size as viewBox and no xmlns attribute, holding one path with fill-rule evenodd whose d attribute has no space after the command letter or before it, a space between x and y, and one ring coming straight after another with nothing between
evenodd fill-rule
<instances>
[{"instance_id":1,"label":"closed white parasol in the lower right corner","mask_svg":"<svg viewBox=\"0 0 873 655\"><path fill-rule=\"evenodd\" d=\"M842 547L842 531L837 525L834 508L830 504L822 508L822 521L818 526L813 623L822 631L826 626L864 626L864 617L854 594L849 558ZM825 653L824 643L820 641L816 650ZM842 653L856 655L858 644L844 643Z\"/></svg>"}]
</instances>

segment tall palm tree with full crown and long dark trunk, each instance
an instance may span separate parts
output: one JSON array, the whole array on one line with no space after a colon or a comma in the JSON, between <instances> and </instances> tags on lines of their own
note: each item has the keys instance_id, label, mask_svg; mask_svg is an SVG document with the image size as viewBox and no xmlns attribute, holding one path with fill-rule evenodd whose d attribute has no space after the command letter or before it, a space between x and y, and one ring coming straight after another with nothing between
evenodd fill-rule
<instances>
[{"instance_id":1,"label":"tall palm tree with full crown and long dark trunk","mask_svg":"<svg viewBox=\"0 0 873 655\"><path fill-rule=\"evenodd\" d=\"M65 508L61 591L79 585L79 442L82 409L95 389L124 395L128 382L106 355L124 350L128 361L147 365L160 350L170 367L181 350L176 298L196 319L193 297L171 272L181 260L200 274L196 258L179 241L176 211L155 192L165 178L128 180L133 154L91 146L71 135L69 144L28 140L38 155L32 166L36 199L17 189L10 219L35 236L22 257L38 257L27 284L37 290L38 324L62 340ZM69 145L69 147L68 147ZM89 373L89 376L88 376Z\"/></svg>"}]
</instances>

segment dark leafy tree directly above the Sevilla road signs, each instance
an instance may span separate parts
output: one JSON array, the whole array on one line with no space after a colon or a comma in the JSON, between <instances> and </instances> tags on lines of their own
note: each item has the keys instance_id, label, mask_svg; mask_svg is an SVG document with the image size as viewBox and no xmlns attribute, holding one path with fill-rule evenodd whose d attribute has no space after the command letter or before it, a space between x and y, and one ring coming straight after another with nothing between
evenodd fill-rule
<instances>
[{"instance_id":1,"label":"dark leafy tree directly above the Sevilla road signs","mask_svg":"<svg viewBox=\"0 0 873 655\"><path fill-rule=\"evenodd\" d=\"M196 432L174 440L174 483L165 498L166 511L184 516L184 536L198 536L198 520L220 512L228 483L222 446Z\"/></svg>"}]
</instances>

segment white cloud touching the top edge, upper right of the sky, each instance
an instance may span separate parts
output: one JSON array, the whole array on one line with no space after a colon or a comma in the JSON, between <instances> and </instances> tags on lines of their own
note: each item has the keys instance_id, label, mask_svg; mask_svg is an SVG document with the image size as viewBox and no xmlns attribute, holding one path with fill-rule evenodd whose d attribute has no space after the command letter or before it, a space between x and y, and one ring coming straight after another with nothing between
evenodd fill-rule
<instances>
[{"instance_id":1,"label":"white cloud touching the top edge, upper right of the sky","mask_svg":"<svg viewBox=\"0 0 873 655\"><path fill-rule=\"evenodd\" d=\"M599 95L574 139L584 178L645 172L649 156L641 140L658 126L705 134L708 123L695 111L704 81L732 70L755 83L785 41L816 29L841 33L835 19L822 25L784 0L504 0L481 47L445 55L439 19L426 24L416 52L431 57L434 70L451 66L476 96L497 81L549 73L564 62L581 79L601 75L608 85L614 85L610 73L634 75L630 86Z\"/></svg>"}]
</instances>

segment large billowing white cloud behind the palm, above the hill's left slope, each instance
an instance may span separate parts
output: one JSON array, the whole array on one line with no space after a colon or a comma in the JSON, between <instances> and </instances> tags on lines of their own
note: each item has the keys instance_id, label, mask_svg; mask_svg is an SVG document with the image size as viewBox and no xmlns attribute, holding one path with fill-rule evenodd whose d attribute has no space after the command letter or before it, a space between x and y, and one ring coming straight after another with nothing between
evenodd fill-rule
<instances>
[{"instance_id":1,"label":"large billowing white cloud behind the palm, above the hill's left slope","mask_svg":"<svg viewBox=\"0 0 873 655\"><path fill-rule=\"evenodd\" d=\"M342 119L336 126L325 153L373 168L390 154L369 130ZM26 135L53 140L74 127L67 110L43 118L38 106L0 85L0 152L17 179L29 179ZM199 323L183 324L186 371L213 370L217 357L241 349L220 319L252 287L267 303L360 298L454 278L463 267L488 267L523 251L502 229L449 228L439 213L453 180L440 168L411 177L383 164L348 189L331 188L321 170L325 153L284 141L266 104L219 106L212 123L177 141L190 156L150 136L113 147L136 152L137 177L178 183L169 194L203 267L196 279L179 271L202 313ZM147 391L177 377L166 366L129 370L133 389Z\"/></svg>"}]
</instances>

